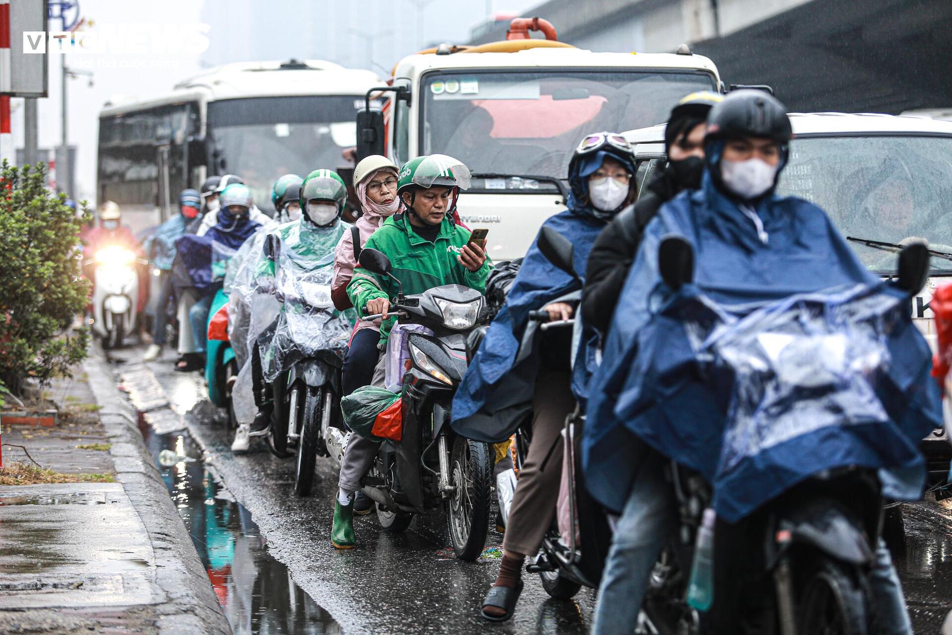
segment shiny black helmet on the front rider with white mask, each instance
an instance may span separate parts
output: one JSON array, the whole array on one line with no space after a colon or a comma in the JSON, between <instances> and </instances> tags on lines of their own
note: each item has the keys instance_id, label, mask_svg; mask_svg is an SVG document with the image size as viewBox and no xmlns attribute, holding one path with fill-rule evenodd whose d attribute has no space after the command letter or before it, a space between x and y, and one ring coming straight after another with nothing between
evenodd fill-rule
<instances>
[{"instance_id":1,"label":"shiny black helmet on the front rider with white mask","mask_svg":"<svg viewBox=\"0 0 952 635\"><path fill-rule=\"evenodd\" d=\"M777 180L786 166L790 140L793 138L790 118L786 116L786 108L780 100L764 90L735 90L728 93L724 101L716 104L707 115L704 161L714 186L732 197L734 194L721 178L724 141L743 137L772 139L780 144L780 164L773 186L763 194L767 196L777 188Z\"/></svg>"}]
</instances>

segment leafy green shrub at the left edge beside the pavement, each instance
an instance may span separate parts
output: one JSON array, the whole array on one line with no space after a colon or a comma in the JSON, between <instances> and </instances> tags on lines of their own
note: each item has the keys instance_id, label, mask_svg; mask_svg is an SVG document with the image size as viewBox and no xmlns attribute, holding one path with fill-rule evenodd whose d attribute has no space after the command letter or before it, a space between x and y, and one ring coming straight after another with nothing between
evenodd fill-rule
<instances>
[{"instance_id":1,"label":"leafy green shrub at the left edge beside the pavement","mask_svg":"<svg viewBox=\"0 0 952 635\"><path fill-rule=\"evenodd\" d=\"M70 331L89 294L78 258L83 219L46 188L46 167L0 169L0 382L47 384L86 356L89 332Z\"/></svg>"}]
</instances>

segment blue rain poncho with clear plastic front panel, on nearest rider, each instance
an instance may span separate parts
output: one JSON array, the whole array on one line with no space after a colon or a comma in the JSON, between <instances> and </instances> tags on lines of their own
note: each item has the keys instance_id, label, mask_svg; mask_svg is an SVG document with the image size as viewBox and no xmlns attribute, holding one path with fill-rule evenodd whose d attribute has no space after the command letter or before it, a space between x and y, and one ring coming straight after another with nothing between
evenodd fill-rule
<instances>
[{"instance_id":1,"label":"blue rain poncho with clear plastic front panel, on nearest rider","mask_svg":"<svg viewBox=\"0 0 952 635\"><path fill-rule=\"evenodd\" d=\"M701 472L728 522L839 466L886 468L887 496L921 491L918 443L941 401L907 299L820 208L769 195L755 211L766 243L705 175L645 228L589 386L585 483L609 509L645 444ZM695 250L678 293L658 272L669 235Z\"/></svg>"}]
</instances>

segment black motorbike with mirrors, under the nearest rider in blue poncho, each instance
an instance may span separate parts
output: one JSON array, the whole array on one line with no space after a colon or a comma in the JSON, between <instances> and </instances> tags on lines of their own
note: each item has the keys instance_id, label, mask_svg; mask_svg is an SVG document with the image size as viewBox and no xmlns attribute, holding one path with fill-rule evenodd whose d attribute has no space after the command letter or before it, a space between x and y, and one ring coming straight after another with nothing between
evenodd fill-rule
<instances>
[{"instance_id":1,"label":"black motorbike with mirrors, under the nearest rider in blue poncho","mask_svg":"<svg viewBox=\"0 0 952 635\"><path fill-rule=\"evenodd\" d=\"M693 277L692 248L681 238L665 239L659 266L664 282L681 288ZM897 286L912 297L927 268L922 245L904 248ZM651 573L636 632L874 632L876 605L866 579L883 525L875 470L814 474L736 525L713 521L712 490L700 474L670 462L667 475L680 526ZM702 546L711 530L717 540ZM711 556L712 584L699 595L694 573L704 562L711 566L704 560Z\"/></svg>"}]
</instances>

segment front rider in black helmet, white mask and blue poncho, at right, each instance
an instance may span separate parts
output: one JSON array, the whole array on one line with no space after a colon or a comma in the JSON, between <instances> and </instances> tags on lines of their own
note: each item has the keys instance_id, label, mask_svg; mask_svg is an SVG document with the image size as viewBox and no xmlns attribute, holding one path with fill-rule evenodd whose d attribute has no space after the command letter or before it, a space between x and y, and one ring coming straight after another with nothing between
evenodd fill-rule
<instances>
[{"instance_id":1,"label":"front rider in black helmet, white mask and blue poncho, at right","mask_svg":"<svg viewBox=\"0 0 952 635\"><path fill-rule=\"evenodd\" d=\"M892 364L884 373L887 381L876 387L883 416L863 422L846 415L852 425L837 427L842 414L823 422L823 412L816 419L807 415L808 421L794 413L776 424L769 411L765 420L758 413L757 426L766 427L751 425L741 432L757 433L731 438L739 428L728 427L730 395L711 385L723 375L700 378L699 332L692 328L696 323L672 309L679 300L700 298L707 304L693 306L742 317L771 301L829 294L832 288L845 289L841 297L880 294L885 305L896 304L895 294L890 300L891 289L863 268L822 209L773 193L792 136L780 102L756 90L732 92L707 121L702 188L666 203L645 228L605 357L589 386L585 484L603 505L621 513L599 590L595 633L631 632L652 566L677 529L677 504L664 479L666 459L700 471L714 487L718 515L733 523L825 468L892 468L898 478L890 483L883 471L883 493L891 486L895 494L909 495L922 483L922 474L908 479L916 466L922 472L917 440L942 420L938 391L928 380L928 347L908 311L893 310L893 326L883 336ZM669 235L684 237L695 252L693 284L678 294L664 285L658 268L658 248ZM795 371L796 364L788 361L785 368ZM730 414L731 421L738 417L737 411ZM764 445L770 434L774 439ZM883 632L911 633L902 588L882 541L868 581Z\"/></svg>"}]
</instances>

